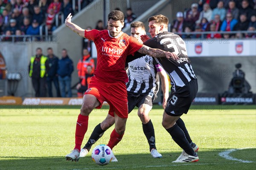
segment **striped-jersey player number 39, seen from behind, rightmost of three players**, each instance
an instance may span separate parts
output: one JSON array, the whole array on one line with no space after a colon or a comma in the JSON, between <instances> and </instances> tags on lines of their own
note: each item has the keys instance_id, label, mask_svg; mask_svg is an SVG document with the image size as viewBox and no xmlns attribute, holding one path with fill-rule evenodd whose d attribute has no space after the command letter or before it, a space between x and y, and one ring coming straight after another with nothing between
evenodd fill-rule
<instances>
[{"instance_id":1,"label":"striped-jersey player number 39, seen from behind, rightmost of three players","mask_svg":"<svg viewBox=\"0 0 256 170\"><path fill-rule=\"evenodd\" d=\"M168 32L168 22L164 15L149 17L148 26L152 38L143 35L141 39L151 48L175 52L179 57L178 60L155 58L169 75L172 84L172 93L167 100L162 125L183 149L181 155L173 162L195 162L199 160L198 146L192 142L180 116L189 111L198 91L198 82L187 55L186 45L180 36Z\"/></svg>"}]
</instances>

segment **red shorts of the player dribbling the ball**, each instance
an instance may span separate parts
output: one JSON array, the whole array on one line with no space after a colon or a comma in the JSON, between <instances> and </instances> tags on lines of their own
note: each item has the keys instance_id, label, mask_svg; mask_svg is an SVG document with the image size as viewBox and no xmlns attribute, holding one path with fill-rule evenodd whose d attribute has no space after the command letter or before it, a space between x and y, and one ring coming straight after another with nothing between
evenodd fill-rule
<instances>
[{"instance_id":1,"label":"red shorts of the player dribbling the ball","mask_svg":"<svg viewBox=\"0 0 256 170\"><path fill-rule=\"evenodd\" d=\"M114 112L121 118L128 118L128 100L125 82L102 82L96 77L92 77L87 91L84 94L95 96L102 107L104 101L109 104L108 114L114 116Z\"/></svg>"}]
</instances>

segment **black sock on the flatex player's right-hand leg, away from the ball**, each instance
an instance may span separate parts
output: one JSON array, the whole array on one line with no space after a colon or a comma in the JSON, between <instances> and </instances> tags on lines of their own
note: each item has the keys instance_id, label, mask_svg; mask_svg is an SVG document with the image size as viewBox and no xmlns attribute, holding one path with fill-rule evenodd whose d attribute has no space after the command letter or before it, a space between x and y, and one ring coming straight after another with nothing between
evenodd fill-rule
<instances>
[{"instance_id":1,"label":"black sock on the flatex player's right-hand leg, away from the ball","mask_svg":"<svg viewBox=\"0 0 256 170\"><path fill-rule=\"evenodd\" d=\"M142 124L142 128L146 138L148 139L149 151L151 151L153 148L157 149L154 135L154 126L151 120L149 120L149 122L146 124Z\"/></svg>"}]
</instances>

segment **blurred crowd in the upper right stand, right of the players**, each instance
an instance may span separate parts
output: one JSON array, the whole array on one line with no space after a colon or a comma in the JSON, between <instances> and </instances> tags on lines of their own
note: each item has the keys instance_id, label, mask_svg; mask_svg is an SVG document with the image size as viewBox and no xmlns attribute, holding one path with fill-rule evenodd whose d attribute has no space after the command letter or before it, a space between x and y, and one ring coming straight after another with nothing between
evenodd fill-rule
<instances>
[{"instance_id":1,"label":"blurred crowd in the upper right stand, right of the players","mask_svg":"<svg viewBox=\"0 0 256 170\"><path fill-rule=\"evenodd\" d=\"M191 8L179 11L173 20L171 31L182 38L241 38L256 37L246 34L189 34L205 31L255 31L256 0L199 0Z\"/></svg>"}]
</instances>

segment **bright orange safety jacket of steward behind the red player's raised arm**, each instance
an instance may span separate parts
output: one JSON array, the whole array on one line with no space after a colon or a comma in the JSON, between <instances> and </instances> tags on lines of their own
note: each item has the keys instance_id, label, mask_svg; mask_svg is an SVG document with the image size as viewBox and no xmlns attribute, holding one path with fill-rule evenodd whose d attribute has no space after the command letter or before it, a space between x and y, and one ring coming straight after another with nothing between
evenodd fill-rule
<instances>
[{"instance_id":1,"label":"bright orange safety jacket of steward behind the red player's raised arm","mask_svg":"<svg viewBox=\"0 0 256 170\"><path fill-rule=\"evenodd\" d=\"M87 67L92 67L91 76L94 74L94 60L90 57L90 55L84 56L82 59L79 59L77 63L77 71L78 71L78 77L81 80L81 85L87 86L89 85L91 76L88 76L87 74Z\"/></svg>"}]
</instances>

